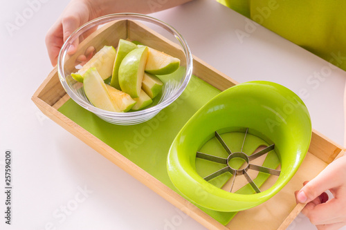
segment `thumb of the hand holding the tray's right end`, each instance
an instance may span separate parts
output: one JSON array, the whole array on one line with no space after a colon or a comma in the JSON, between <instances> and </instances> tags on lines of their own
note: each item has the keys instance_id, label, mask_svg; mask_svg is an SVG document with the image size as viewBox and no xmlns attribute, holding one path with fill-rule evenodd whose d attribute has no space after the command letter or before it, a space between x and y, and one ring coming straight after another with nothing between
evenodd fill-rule
<instances>
[{"instance_id":1,"label":"thumb of the hand holding the tray's right end","mask_svg":"<svg viewBox=\"0 0 346 230\"><path fill-rule=\"evenodd\" d=\"M335 177L336 175L333 168L327 166L327 168L320 172L316 178L307 182L307 184L300 189L296 195L298 202L311 202L328 189L338 186L338 180L335 180Z\"/></svg>"}]
</instances>

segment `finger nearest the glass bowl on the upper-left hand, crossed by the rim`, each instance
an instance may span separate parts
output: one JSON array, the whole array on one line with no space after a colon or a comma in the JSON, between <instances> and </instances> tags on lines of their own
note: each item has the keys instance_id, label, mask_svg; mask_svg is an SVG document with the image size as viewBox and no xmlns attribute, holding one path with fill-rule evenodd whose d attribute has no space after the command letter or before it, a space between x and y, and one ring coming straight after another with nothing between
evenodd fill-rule
<instances>
[{"instance_id":1,"label":"finger nearest the glass bowl on the upper-left hand, crossed by the rim","mask_svg":"<svg viewBox=\"0 0 346 230\"><path fill-rule=\"evenodd\" d=\"M62 31L63 31L64 41L66 41L66 39L68 39L70 35L79 27L80 27L80 19L78 17L65 16L62 19ZM76 38L75 41L73 41L73 44L71 44L67 52L69 55L72 55L73 53L75 53L78 47L78 43L79 43L79 39Z\"/></svg>"}]
</instances>

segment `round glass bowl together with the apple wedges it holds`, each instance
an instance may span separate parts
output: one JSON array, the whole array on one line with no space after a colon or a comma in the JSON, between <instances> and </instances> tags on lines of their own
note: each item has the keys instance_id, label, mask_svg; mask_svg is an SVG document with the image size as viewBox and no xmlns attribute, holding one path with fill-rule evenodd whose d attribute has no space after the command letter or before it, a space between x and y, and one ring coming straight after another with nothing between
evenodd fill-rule
<instances>
[{"instance_id":1,"label":"round glass bowl together with the apple wedges it holds","mask_svg":"<svg viewBox=\"0 0 346 230\"><path fill-rule=\"evenodd\" d=\"M138 62L131 61L141 46L146 46L141 51L147 50L147 55L141 52ZM124 60L127 64L122 64ZM152 119L183 93L192 77L192 62L187 42L169 24L148 15L118 13L75 30L62 45L57 73L66 93L82 108L106 122L133 125ZM98 72L93 79L97 90L93 84L84 90L84 74L90 68ZM92 99L95 95L90 95L96 92L112 103L100 108L98 99Z\"/></svg>"}]
</instances>

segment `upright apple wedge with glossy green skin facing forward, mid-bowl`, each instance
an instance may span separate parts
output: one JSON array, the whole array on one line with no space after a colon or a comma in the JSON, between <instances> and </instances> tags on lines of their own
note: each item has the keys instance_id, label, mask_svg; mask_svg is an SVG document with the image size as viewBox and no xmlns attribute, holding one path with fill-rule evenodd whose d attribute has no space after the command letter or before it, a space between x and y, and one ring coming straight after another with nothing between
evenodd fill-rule
<instances>
[{"instance_id":1,"label":"upright apple wedge with glossy green skin facing forward, mid-bowl","mask_svg":"<svg viewBox=\"0 0 346 230\"><path fill-rule=\"evenodd\" d=\"M136 48L122 59L119 66L120 88L132 98L139 97L147 56L147 46Z\"/></svg>"}]
</instances>

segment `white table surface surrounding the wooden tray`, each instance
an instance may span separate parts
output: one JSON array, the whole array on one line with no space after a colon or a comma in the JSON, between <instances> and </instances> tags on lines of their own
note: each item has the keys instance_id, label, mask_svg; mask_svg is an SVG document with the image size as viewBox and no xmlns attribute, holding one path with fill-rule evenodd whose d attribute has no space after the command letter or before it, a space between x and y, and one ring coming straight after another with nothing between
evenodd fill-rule
<instances>
[{"instance_id":1,"label":"white table surface surrounding the wooden tray","mask_svg":"<svg viewBox=\"0 0 346 230\"><path fill-rule=\"evenodd\" d=\"M46 31L68 3L45 1L26 21L17 21L12 35L6 25L16 23L28 2L4 1L0 9L1 213L6 149L12 150L13 169L12 224L5 224L1 214L0 229L205 229L185 215L176 218L180 214L172 204L44 117L33 104L31 96L52 69ZM241 42L235 31L246 32L248 19L215 1L193 1L152 16L174 26L194 55L237 82L268 80L300 96L305 90L313 128L343 144L345 71L259 25L247 30ZM324 70L325 77L312 78ZM89 193L80 193L85 188ZM77 206L64 214L68 204ZM174 222L178 219L182 221ZM289 229L315 227L300 214Z\"/></svg>"}]
</instances>

